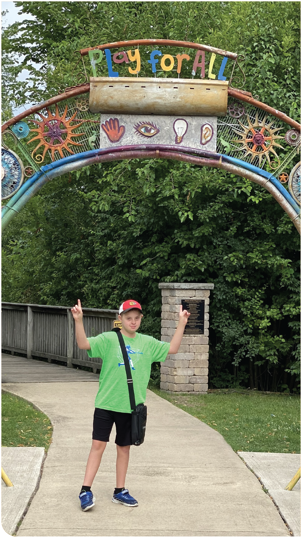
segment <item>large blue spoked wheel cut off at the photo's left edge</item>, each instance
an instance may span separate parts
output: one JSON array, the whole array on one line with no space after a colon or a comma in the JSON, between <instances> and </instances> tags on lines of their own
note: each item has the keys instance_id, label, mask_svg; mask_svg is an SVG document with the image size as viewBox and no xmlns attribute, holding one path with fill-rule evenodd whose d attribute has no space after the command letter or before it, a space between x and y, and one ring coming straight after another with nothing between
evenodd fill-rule
<instances>
[{"instance_id":1,"label":"large blue spoked wheel cut off at the photo's left edge","mask_svg":"<svg viewBox=\"0 0 302 538\"><path fill-rule=\"evenodd\" d=\"M10 198L21 187L24 179L22 161L15 152L1 148L1 200Z\"/></svg>"}]
</instances>

